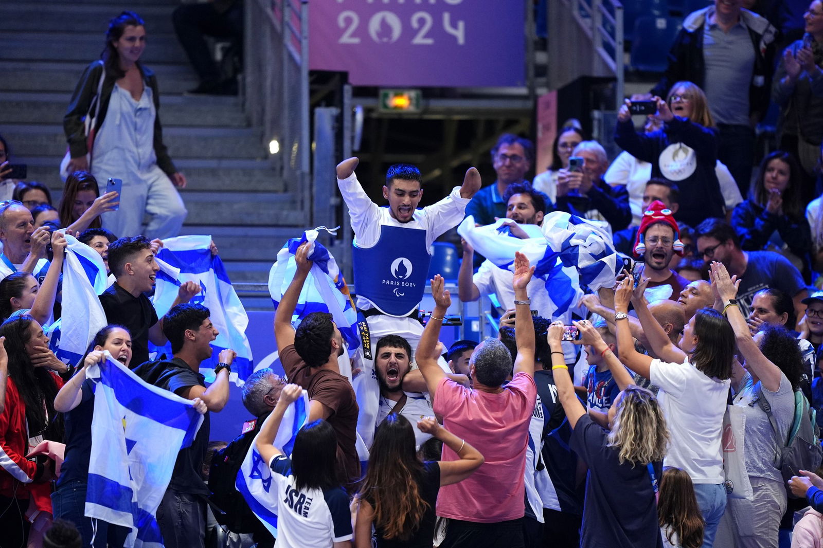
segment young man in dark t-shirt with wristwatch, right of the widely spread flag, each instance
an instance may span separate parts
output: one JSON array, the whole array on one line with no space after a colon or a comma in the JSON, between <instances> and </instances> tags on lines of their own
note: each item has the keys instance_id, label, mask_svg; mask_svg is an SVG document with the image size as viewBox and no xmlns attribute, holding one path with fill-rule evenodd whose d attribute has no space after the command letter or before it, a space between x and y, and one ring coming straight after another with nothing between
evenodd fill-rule
<instances>
[{"instance_id":1,"label":"young man in dark t-shirt with wristwatch, right of the widely spread flag","mask_svg":"<svg viewBox=\"0 0 823 548\"><path fill-rule=\"evenodd\" d=\"M171 342L171 360L152 361L134 372L147 383L187 399L199 397L208 411L222 411L229 401L229 374L235 351L220 353L216 379L208 388L200 363L212 357L211 342L219 334L202 304L178 304L163 317L163 332ZM206 532L206 499L209 490L202 480L202 462L209 441L209 413L193 443L181 449L174 462L169 487L157 509L157 524L166 548L202 548ZM162 443L161 440L158 440Z\"/></svg>"}]
</instances>

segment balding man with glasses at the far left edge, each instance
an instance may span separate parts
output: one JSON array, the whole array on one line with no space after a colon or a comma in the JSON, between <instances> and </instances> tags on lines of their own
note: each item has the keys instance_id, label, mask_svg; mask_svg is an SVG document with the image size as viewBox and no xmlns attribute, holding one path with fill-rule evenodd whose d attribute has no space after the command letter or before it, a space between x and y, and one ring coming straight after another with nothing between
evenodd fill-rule
<instances>
[{"instance_id":1,"label":"balding man with glasses at the far left edge","mask_svg":"<svg viewBox=\"0 0 823 548\"><path fill-rule=\"evenodd\" d=\"M51 235L41 226L35 230L31 212L20 202L7 202L0 207L0 280L12 272L31 272L42 282L49 261L46 260L46 244Z\"/></svg>"}]
</instances>

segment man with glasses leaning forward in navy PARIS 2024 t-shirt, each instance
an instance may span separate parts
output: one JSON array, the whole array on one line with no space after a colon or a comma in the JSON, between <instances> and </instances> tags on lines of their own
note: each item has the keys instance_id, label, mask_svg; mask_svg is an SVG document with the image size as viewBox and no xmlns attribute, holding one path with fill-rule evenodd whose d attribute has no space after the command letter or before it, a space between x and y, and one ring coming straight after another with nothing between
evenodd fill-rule
<instances>
[{"instance_id":1,"label":"man with glasses leaning forward in navy PARIS 2024 t-shirt","mask_svg":"<svg viewBox=\"0 0 823 548\"><path fill-rule=\"evenodd\" d=\"M741 280L737 304L748 316L755 294L772 287L792 297L797 318L802 318L808 291L803 277L787 258L774 251L743 251L737 232L723 219L706 219L695 229L697 254L704 262L723 262L732 276ZM793 325L786 327L793 329Z\"/></svg>"}]
</instances>

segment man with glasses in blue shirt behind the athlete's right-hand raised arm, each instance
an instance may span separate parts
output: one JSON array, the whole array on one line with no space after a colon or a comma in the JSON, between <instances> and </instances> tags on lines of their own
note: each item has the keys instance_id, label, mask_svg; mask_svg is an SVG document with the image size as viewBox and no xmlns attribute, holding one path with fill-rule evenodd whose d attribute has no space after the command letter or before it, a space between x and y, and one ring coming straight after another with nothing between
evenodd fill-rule
<instances>
[{"instance_id":1,"label":"man with glasses in blue shirt behind the athlete's right-hand raised arm","mask_svg":"<svg viewBox=\"0 0 823 548\"><path fill-rule=\"evenodd\" d=\"M497 180L481 188L466 206L466 216L474 216L477 225L491 225L495 217L506 216L503 195L511 183L523 183L534 161L534 145L528 139L504 133L491 149L491 161Z\"/></svg>"}]
</instances>

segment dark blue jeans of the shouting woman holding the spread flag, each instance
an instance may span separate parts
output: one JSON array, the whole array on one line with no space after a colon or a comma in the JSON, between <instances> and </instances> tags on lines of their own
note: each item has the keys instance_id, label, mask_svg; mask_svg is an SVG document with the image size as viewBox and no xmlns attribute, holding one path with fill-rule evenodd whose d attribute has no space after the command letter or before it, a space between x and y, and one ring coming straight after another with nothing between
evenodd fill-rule
<instances>
[{"instance_id":1,"label":"dark blue jeans of the shouting woman holding the spread flag","mask_svg":"<svg viewBox=\"0 0 823 548\"><path fill-rule=\"evenodd\" d=\"M83 481L69 481L58 487L52 493L52 513L54 518L62 518L74 523L77 531L83 537L83 546L105 548L108 546L123 546L126 536L131 532L127 527L112 525L102 519L86 518L86 483ZM96 527L96 529L95 529ZM91 545L92 536L95 539Z\"/></svg>"}]
</instances>

